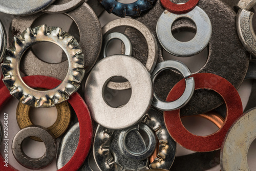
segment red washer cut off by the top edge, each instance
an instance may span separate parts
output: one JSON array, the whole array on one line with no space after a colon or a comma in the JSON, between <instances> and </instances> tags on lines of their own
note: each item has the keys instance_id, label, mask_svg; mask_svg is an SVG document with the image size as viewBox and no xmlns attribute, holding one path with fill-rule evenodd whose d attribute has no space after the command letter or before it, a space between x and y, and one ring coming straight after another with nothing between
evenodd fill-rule
<instances>
[{"instance_id":1,"label":"red washer cut off by the top edge","mask_svg":"<svg viewBox=\"0 0 256 171\"><path fill-rule=\"evenodd\" d=\"M170 2L170 0L161 0L160 2L162 6L169 12L183 14L193 10L197 6L199 0L189 0L185 4L175 4Z\"/></svg>"}]
</instances>

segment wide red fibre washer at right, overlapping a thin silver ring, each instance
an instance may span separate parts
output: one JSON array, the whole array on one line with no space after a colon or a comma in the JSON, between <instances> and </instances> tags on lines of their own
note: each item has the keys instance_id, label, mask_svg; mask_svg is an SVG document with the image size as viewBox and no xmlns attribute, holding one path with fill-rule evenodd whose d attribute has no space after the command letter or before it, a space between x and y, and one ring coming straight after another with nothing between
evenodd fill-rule
<instances>
[{"instance_id":1,"label":"wide red fibre washer at right, overlapping a thin silver ring","mask_svg":"<svg viewBox=\"0 0 256 171\"><path fill-rule=\"evenodd\" d=\"M221 129L208 136L197 136L188 132L180 119L180 110L164 112L164 122L170 136L181 146L195 152L210 152L220 149L230 126L243 114L242 101L236 90L226 79L209 73L194 74L195 90L208 89L219 93L227 106L227 116ZM166 101L179 98L185 89L184 79L170 91ZM207 92L205 92L207 93ZM205 101L207 103L207 101Z\"/></svg>"}]
</instances>

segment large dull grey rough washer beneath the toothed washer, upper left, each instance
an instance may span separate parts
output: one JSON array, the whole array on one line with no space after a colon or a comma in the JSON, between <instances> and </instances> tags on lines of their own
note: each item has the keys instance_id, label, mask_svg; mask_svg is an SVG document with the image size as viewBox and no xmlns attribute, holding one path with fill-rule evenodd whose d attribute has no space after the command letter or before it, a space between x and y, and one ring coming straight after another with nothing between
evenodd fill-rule
<instances>
[{"instance_id":1,"label":"large dull grey rough washer beneath the toothed washer, upper left","mask_svg":"<svg viewBox=\"0 0 256 171\"><path fill-rule=\"evenodd\" d=\"M31 26L34 21L42 15L44 15L44 13L37 13L26 17L15 16L12 20L11 30L9 31L9 45L11 44L10 37L18 35L18 32ZM99 20L87 3L83 3L75 10L66 13L66 15L72 18L78 27L80 35L79 44L84 54L84 69L86 73L88 73L94 66L100 53L99 49L101 49L102 34ZM68 32L68 30L66 31ZM68 61L61 63L47 63L41 61L31 50L28 50L24 53L23 60L20 63L20 70L26 75L41 75L41 73L44 73L46 76L63 80L68 72L68 65Z\"/></svg>"}]
</instances>

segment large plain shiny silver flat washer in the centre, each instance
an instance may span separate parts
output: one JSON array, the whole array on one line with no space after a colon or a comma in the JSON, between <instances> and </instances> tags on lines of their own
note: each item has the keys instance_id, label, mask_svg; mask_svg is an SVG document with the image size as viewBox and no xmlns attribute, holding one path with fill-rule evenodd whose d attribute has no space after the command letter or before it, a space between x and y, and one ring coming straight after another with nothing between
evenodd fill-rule
<instances>
[{"instance_id":1,"label":"large plain shiny silver flat washer in the centre","mask_svg":"<svg viewBox=\"0 0 256 171\"><path fill-rule=\"evenodd\" d=\"M115 76L126 78L132 85L131 98L121 108L112 108L102 95L106 83ZM92 117L109 129L124 129L137 123L150 108L152 96L150 74L137 59L125 55L100 60L90 72L84 87L84 98L90 106Z\"/></svg>"}]
</instances>

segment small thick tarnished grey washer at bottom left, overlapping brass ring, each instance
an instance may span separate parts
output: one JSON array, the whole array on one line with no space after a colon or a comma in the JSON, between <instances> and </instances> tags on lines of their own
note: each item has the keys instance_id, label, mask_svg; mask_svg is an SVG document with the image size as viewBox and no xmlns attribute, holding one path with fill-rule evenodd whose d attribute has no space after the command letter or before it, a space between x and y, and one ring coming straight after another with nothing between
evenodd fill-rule
<instances>
[{"instance_id":1,"label":"small thick tarnished grey washer at bottom left, overlapping brass ring","mask_svg":"<svg viewBox=\"0 0 256 171\"><path fill-rule=\"evenodd\" d=\"M22 149L25 138L35 136L40 138L46 146L46 153L39 158L28 157ZM12 153L19 164L30 169L40 169L52 163L57 153L57 142L54 135L42 126L30 126L20 130L13 138Z\"/></svg>"}]
</instances>

